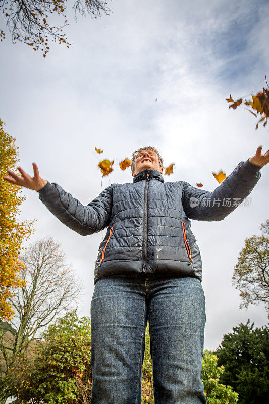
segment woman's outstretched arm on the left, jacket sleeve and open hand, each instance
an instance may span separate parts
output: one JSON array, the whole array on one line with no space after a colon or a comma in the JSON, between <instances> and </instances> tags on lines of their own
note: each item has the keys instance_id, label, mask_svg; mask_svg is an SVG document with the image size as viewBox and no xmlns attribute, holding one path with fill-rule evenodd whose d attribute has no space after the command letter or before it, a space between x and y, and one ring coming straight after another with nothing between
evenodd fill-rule
<instances>
[{"instance_id":1,"label":"woman's outstretched arm on the left, jacket sleeve and open hand","mask_svg":"<svg viewBox=\"0 0 269 404\"><path fill-rule=\"evenodd\" d=\"M40 178L35 163L33 163L33 168L34 177L30 177L21 167L18 167L22 177L8 170L12 178L3 178L13 184L37 191L39 199L53 215L70 229L83 236L97 233L109 225L112 210L111 186L104 189L92 202L84 206L60 185Z\"/></svg>"}]
</instances>

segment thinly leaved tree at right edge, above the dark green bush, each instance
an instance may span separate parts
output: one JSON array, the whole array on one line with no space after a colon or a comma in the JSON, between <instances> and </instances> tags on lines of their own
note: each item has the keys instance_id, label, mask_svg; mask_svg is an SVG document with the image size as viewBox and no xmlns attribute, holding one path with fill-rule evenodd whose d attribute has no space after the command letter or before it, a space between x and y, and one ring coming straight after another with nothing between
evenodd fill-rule
<instances>
[{"instance_id":1,"label":"thinly leaved tree at right edge, above the dark green bush","mask_svg":"<svg viewBox=\"0 0 269 404\"><path fill-rule=\"evenodd\" d=\"M269 318L269 220L262 223L262 236L245 239L245 246L240 251L234 268L232 283L240 290L242 307L249 304L265 303Z\"/></svg>"}]
</instances>

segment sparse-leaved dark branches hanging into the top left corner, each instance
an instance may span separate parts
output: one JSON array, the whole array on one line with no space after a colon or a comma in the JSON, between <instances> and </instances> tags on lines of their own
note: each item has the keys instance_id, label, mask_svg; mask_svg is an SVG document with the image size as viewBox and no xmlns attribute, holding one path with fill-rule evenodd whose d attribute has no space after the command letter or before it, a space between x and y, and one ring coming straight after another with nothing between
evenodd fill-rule
<instances>
[{"instance_id":1,"label":"sparse-leaved dark branches hanging into the top left corner","mask_svg":"<svg viewBox=\"0 0 269 404\"><path fill-rule=\"evenodd\" d=\"M48 38L53 42L66 43L66 34L63 29L67 23L65 14L67 0L0 0L0 9L7 18L6 25L9 28L12 43L24 42L32 46L34 51L43 51L45 57L49 51ZM89 14L92 18L97 18L102 12L108 14L110 11L106 7L106 0L76 0L73 5L75 10L75 20L77 13L83 17ZM51 20L56 17L62 18L63 25L53 26ZM5 39L5 32L0 30L1 42Z\"/></svg>"}]
</instances>

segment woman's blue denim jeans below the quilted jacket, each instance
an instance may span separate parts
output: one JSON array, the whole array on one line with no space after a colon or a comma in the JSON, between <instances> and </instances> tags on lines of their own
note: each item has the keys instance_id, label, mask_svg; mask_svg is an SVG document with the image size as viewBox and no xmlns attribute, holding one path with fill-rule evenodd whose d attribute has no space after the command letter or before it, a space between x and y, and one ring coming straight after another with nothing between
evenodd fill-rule
<instances>
[{"instance_id":1,"label":"woman's blue denim jeans below the quilted jacket","mask_svg":"<svg viewBox=\"0 0 269 404\"><path fill-rule=\"evenodd\" d=\"M205 299L199 279L100 278L91 301L91 404L141 404L147 321L155 404L206 404Z\"/></svg>"}]
</instances>

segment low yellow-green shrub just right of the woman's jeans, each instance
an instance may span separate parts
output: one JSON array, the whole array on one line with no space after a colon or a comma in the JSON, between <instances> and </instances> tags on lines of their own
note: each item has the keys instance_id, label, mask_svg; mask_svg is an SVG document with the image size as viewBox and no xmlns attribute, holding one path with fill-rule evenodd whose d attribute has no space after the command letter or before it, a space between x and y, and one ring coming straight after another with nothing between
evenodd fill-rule
<instances>
[{"instance_id":1,"label":"low yellow-green shrub just right of the woman's jeans","mask_svg":"<svg viewBox=\"0 0 269 404\"><path fill-rule=\"evenodd\" d=\"M224 373L224 366L217 366L218 357L210 350L205 349L202 359L202 381L207 404L235 404L238 394L231 386L220 383Z\"/></svg>"}]
</instances>

